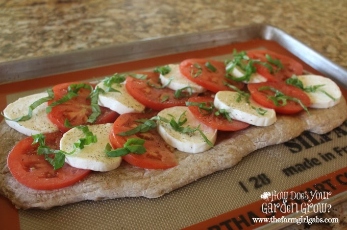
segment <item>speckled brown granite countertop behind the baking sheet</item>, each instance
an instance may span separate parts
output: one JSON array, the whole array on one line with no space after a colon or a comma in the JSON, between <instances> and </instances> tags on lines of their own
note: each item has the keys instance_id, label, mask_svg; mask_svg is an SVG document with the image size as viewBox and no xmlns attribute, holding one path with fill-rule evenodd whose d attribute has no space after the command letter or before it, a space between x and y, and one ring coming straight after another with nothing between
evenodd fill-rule
<instances>
[{"instance_id":1,"label":"speckled brown granite countertop behind the baking sheet","mask_svg":"<svg viewBox=\"0 0 347 230\"><path fill-rule=\"evenodd\" d=\"M151 37L269 24L347 68L345 15L347 1L339 0L3 0L0 62ZM330 215L340 217L342 224L335 227L342 229L347 205L336 206Z\"/></svg>"}]
</instances>

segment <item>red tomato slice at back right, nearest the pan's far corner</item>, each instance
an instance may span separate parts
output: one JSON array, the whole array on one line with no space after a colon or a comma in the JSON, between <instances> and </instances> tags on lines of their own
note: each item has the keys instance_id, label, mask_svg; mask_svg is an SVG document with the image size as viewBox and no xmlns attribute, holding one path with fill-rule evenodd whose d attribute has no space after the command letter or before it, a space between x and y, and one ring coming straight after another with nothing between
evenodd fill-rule
<instances>
[{"instance_id":1,"label":"red tomato slice at back right, nearest the pan's far corner","mask_svg":"<svg viewBox=\"0 0 347 230\"><path fill-rule=\"evenodd\" d=\"M266 54L268 54L272 60L280 60L283 68L281 68L279 71L277 71L278 66L275 64L271 64L268 62L266 58ZM266 62L270 64L273 68L274 73L271 74L269 69L261 64L254 64L254 66L257 67L257 72L262 75L263 77L267 78L268 81L285 81L286 79L290 78L293 74L295 75L302 75L303 74L303 66L299 62L295 61L294 59L277 54L272 51L268 50L255 50L255 51L249 51L247 52L247 56L249 56L252 59L259 59L261 62Z\"/></svg>"}]
</instances>

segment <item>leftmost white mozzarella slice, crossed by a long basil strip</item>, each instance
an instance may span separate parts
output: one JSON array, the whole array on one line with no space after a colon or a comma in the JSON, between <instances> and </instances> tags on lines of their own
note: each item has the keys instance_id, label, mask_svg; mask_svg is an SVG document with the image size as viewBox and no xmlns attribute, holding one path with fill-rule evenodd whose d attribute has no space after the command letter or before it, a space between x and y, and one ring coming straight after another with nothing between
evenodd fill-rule
<instances>
[{"instance_id":1,"label":"leftmost white mozzarella slice, crossed by a long basil strip","mask_svg":"<svg viewBox=\"0 0 347 230\"><path fill-rule=\"evenodd\" d=\"M29 106L44 97L48 97L48 94L40 93L19 98L4 109L4 116L9 119L16 119L25 116L28 114ZM28 136L39 133L56 132L58 131L58 128L47 118L46 107L47 103L43 103L36 107L33 110L31 119L27 121L5 121L11 128Z\"/></svg>"}]
</instances>

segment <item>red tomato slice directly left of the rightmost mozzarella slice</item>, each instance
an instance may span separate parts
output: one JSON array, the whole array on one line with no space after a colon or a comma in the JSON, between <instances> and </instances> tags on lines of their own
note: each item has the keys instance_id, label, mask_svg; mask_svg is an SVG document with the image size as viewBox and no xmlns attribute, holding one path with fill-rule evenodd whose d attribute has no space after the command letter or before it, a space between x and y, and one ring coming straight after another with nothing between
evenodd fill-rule
<instances>
[{"instance_id":1,"label":"red tomato slice directly left of the rightmost mozzarella slice","mask_svg":"<svg viewBox=\"0 0 347 230\"><path fill-rule=\"evenodd\" d=\"M275 88L286 96L299 99L306 107L310 105L310 98L307 94L300 88L294 87L292 85L287 85L280 82L262 82L248 84L248 89L251 92L252 98L258 102L260 105L275 109L276 112L291 114L302 111L304 108L297 102L287 100L287 104L284 106L276 106L275 103L268 99L267 96L274 96L275 92L269 89L259 91L259 88L264 86L269 86ZM282 104L282 102L280 102Z\"/></svg>"}]
</instances>

